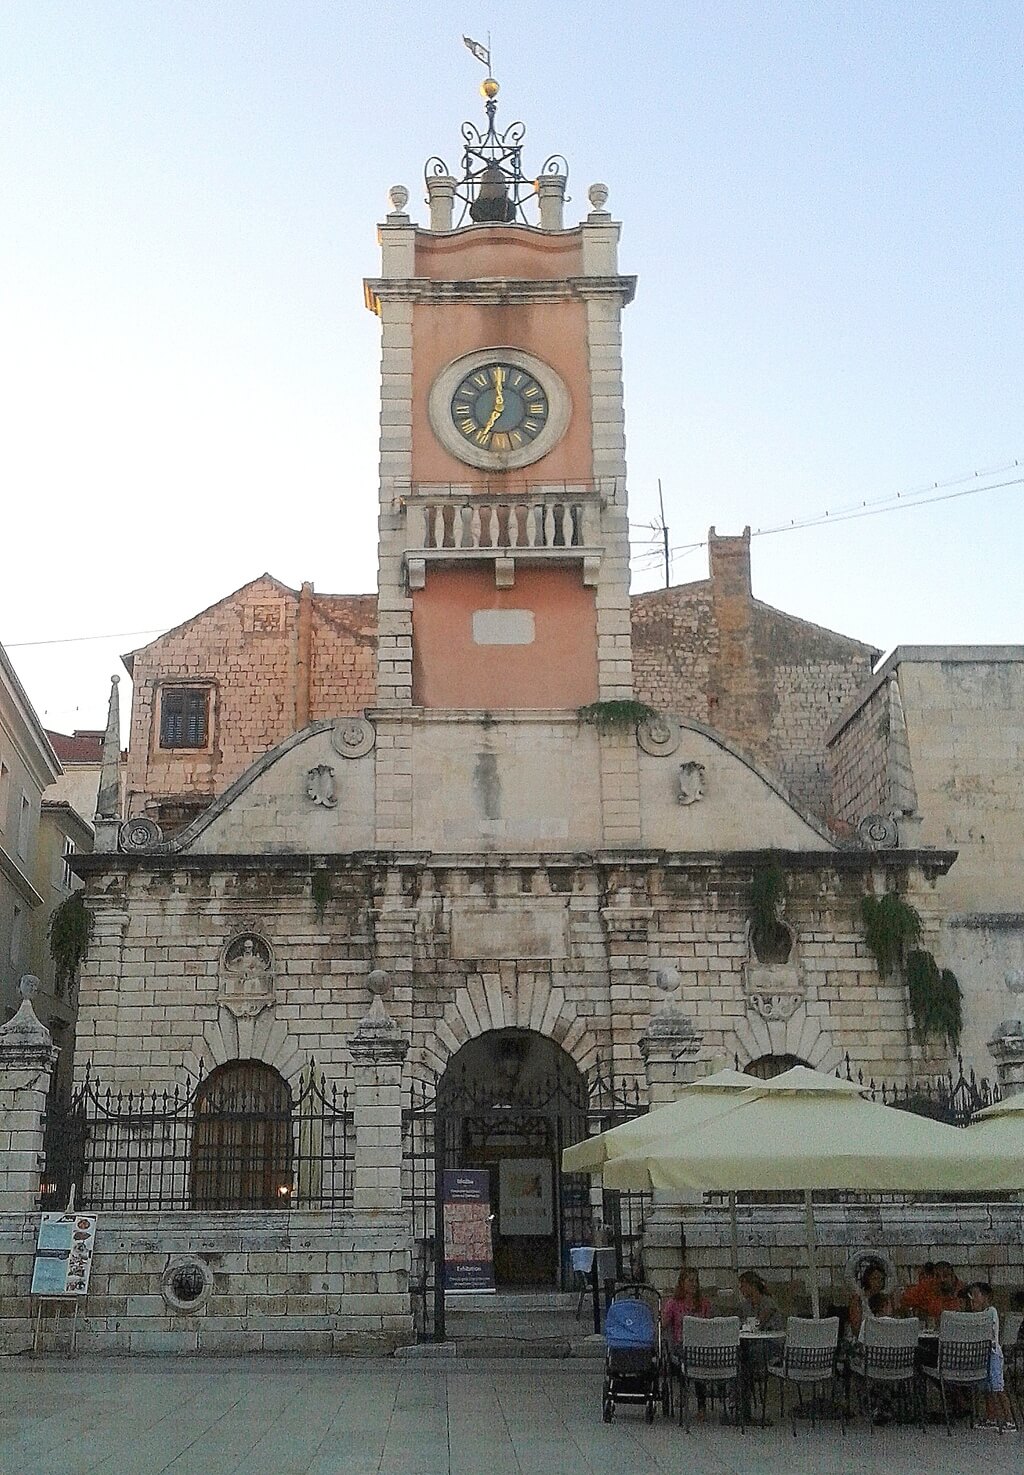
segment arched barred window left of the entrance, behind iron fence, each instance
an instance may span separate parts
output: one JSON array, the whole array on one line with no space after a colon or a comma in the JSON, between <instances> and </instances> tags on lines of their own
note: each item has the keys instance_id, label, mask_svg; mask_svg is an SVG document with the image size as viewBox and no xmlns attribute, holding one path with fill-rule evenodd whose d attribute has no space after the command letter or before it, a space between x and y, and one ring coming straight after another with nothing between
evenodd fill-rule
<instances>
[{"instance_id":1,"label":"arched barred window left of the entrance, behind iron fence","mask_svg":"<svg viewBox=\"0 0 1024 1475\"><path fill-rule=\"evenodd\" d=\"M218 1065L196 1093L192 1208L288 1208L292 1093L261 1061Z\"/></svg>"}]
</instances>

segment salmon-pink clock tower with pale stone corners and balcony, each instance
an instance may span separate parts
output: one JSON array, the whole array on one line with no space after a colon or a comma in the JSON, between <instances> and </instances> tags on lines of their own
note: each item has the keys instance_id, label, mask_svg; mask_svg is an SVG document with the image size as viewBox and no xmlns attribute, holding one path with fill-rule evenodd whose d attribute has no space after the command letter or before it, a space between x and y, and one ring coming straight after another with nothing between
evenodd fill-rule
<instances>
[{"instance_id":1,"label":"salmon-pink clock tower with pale stone corners and balcony","mask_svg":"<svg viewBox=\"0 0 1024 1475\"><path fill-rule=\"evenodd\" d=\"M620 226L567 226L568 170L524 127L462 127L429 224L390 192L381 274L378 720L574 712L633 696ZM381 776L382 777L382 776ZM398 773L395 774L398 777ZM384 836L381 836L384 838Z\"/></svg>"}]
</instances>

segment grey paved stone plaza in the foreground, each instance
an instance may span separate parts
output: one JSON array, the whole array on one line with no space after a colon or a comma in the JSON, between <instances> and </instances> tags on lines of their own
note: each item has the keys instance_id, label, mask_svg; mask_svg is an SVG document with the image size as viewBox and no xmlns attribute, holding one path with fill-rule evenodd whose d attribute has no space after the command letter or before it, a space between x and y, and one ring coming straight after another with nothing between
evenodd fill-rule
<instances>
[{"instance_id":1,"label":"grey paved stone plaza in the foreground","mask_svg":"<svg viewBox=\"0 0 1024 1475\"><path fill-rule=\"evenodd\" d=\"M601 1367L60 1358L0 1364L1 1475L1018 1475L1020 1437L601 1422Z\"/></svg>"}]
</instances>

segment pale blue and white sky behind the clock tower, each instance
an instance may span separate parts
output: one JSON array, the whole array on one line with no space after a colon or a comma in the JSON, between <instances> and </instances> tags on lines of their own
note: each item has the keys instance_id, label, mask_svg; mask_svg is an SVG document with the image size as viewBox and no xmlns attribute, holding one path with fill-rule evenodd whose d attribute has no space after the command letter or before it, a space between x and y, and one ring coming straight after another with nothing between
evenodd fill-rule
<instances>
[{"instance_id":1,"label":"pale blue and white sky behind the clock tower","mask_svg":"<svg viewBox=\"0 0 1024 1475\"><path fill-rule=\"evenodd\" d=\"M750 525L795 615L1024 639L1018 0L3 0L0 640L47 726L264 569L373 589L361 279L488 31L527 168L568 158L570 223L605 181L639 277L633 587L661 479L676 583Z\"/></svg>"}]
</instances>

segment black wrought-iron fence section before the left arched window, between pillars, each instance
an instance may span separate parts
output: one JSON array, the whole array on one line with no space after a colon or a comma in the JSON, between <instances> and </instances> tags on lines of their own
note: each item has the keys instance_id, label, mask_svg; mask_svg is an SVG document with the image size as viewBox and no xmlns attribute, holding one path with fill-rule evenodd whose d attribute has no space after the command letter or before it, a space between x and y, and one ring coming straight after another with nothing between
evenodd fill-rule
<instances>
[{"instance_id":1,"label":"black wrought-iron fence section before the left arched window, between pillars","mask_svg":"<svg viewBox=\"0 0 1024 1475\"><path fill-rule=\"evenodd\" d=\"M347 1089L316 1065L292 1093L245 1062L162 1090L103 1089L90 1077L47 1106L43 1208L345 1208L353 1192Z\"/></svg>"}]
</instances>

